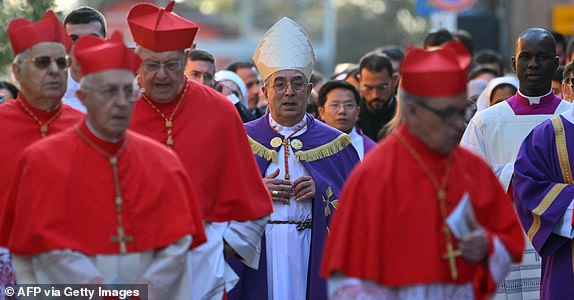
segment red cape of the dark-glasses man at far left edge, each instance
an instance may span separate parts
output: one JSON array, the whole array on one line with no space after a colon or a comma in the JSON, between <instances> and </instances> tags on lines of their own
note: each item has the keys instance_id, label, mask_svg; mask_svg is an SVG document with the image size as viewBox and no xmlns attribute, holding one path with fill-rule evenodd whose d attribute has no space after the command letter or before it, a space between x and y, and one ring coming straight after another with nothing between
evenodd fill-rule
<instances>
[{"instance_id":1,"label":"red cape of the dark-glasses man at far left edge","mask_svg":"<svg viewBox=\"0 0 574 300\"><path fill-rule=\"evenodd\" d=\"M18 97L19 100L8 101L0 105L0 124L2 124L0 131L0 145L2 145L0 146L0 166L2 166L0 167L0 216L4 214L8 192L16 175L18 157L24 148L42 139L40 126L24 110L21 103L36 114L42 123L57 113L57 110L45 112L33 107L22 94ZM63 105L62 113L48 125L48 136L71 128L83 118L82 112L65 104L60 105ZM6 245L7 234L4 228L0 228L0 245Z\"/></svg>"}]
</instances>

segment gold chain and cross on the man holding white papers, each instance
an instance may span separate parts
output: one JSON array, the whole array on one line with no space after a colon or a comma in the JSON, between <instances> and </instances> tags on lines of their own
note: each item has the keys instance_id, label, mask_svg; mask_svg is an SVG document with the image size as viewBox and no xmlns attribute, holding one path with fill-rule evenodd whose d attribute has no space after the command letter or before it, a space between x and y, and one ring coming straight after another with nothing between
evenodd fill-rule
<instances>
[{"instance_id":1,"label":"gold chain and cross on the man holding white papers","mask_svg":"<svg viewBox=\"0 0 574 300\"><path fill-rule=\"evenodd\" d=\"M439 183L437 178L430 171L428 165L424 162L422 157L417 153L417 151L413 148L413 146L411 144L409 144L409 142L400 133L395 131L393 134L397 137L397 139L401 142L401 144L403 144L405 146L405 148L407 149L409 154L417 162L417 164L420 166L420 168L425 173L426 177L429 179L429 181L432 183L432 185L437 190L437 198L438 198L439 205L440 205L440 214L441 214L441 219L442 219L443 235L446 239L446 253L442 256L442 259L448 260L448 264L449 264L449 268L450 268L450 276L453 280L456 280L458 278L458 270L456 268L456 257L460 256L461 254L460 254L459 250L454 249L452 242L450 240L451 234L450 234L450 229L448 228L448 225L446 224L446 204L445 204L445 202L446 202L446 191L445 190L446 190L446 184L448 181L448 175L449 175L450 167L451 167L451 156L450 156L450 154L448 155L447 162L446 162L446 168L444 170L444 174L442 176L442 179Z\"/></svg>"}]
</instances>

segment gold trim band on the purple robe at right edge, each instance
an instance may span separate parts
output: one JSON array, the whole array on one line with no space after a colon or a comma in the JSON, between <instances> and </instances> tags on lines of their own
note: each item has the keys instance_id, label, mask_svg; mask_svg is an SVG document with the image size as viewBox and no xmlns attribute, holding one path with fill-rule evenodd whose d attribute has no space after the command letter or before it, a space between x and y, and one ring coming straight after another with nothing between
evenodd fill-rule
<instances>
[{"instance_id":1,"label":"gold trim band on the purple robe at right edge","mask_svg":"<svg viewBox=\"0 0 574 300\"><path fill-rule=\"evenodd\" d=\"M552 189L544 196L544 199L536 206L532 211L532 225L528 229L528 238L530 241L534 239L534 236L538 233L540 225L542 223L540 216L543 215L546 210L552 205L556 197L562 192L562 190L572 184L572 171L570 170L570 160L568 159L568 149L566 148L566 135L564 132L564 124L560 116L554 116L550 118L552 121L552 126L554 127L554 133L556 136L556 152L558 153L558 161L560 164L560 170L562 171L562 177L566 183L557 183ZM574 250L573 250L574 251ZM574 255L574 254L573 254ZM574 258L574 256L573 256ZM574 267L574 260L573 260ZM574 269L573 269L574 270Z\"/></svg>"}]
</instances>

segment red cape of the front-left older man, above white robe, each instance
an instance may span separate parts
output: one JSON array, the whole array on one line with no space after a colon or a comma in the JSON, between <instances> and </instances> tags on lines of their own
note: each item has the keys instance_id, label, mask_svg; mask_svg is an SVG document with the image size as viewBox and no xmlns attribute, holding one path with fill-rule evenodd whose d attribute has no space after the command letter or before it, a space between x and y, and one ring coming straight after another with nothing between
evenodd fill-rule
<instances>
[{"instance_id":1,"label":"red cape of the front-left older man, above white robe","mask_svg":"<svg viewBox=\"0 0 574 300\"><path fill-rule=\"evenodd\" d=\"M79 130L110 153L119 144ZM118 156L122 218L128 252L165 247L191 234L205 241L201 212L187 174L173 152L136 133L126 133ZM71 249L87 255L118 254L116 191L108 158L75 128L27 148L19 162L3 228L8 248L20 255ZM6 217L6 216L12 216Z\"/></svg>"}]
</instances>

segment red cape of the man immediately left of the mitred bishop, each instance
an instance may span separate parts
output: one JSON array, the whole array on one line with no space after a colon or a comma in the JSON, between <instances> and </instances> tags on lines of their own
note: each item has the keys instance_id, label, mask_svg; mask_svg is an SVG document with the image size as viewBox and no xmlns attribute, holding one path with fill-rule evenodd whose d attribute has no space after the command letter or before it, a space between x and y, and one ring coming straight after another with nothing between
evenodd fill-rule
<instances>
[{"instance_id":1,"label":"red cape of the man immediately left of the mitred bishop","mask_svg":"<svg viewBox=\"0 0 574 300\"><path fill-rule=\"evenodd\" d=\"M237 110L215 90L186 81L185 98L173 120L173 150L183 162L209 222L261 218L273 210ZM182 90L185 90L185 88ZM154 105L170 116L177 99ZM131 129L165 145L165 121L143 99Z\"/></svg>"}]
</instances>

